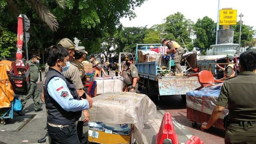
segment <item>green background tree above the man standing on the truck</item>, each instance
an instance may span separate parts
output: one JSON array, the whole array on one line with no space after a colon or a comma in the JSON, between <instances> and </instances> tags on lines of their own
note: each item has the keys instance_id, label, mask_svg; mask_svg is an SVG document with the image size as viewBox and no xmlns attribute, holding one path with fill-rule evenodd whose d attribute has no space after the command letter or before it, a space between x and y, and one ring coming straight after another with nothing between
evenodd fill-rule
<instances>
[{"instance_id":1,"label":"green background tree above the man standing on the truck","mask_svg":"<svg viewBox=\"0 0 256 144\"><path fill-rule=\"evenodd\" d=\"M180 45L183 45L182 39L187 46L187 49L192 49L192 40L190 38L190 27L192 27L192 21L184 17L183 14L177 12L169 15L165 22L166 33L163 36L167 39L177 41ZM185 46L183 45L183 47Z\"/></svg>"}]
</instances>

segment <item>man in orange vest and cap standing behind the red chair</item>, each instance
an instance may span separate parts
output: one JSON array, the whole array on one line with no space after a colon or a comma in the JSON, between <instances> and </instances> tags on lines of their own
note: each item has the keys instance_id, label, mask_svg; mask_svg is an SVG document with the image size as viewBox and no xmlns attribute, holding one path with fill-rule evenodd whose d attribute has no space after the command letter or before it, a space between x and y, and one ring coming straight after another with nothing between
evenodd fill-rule
<instances>
[{"instance_id":1,"label":"man in orange vest and cap standing behind the red chair","mask_svg":"<svg viewBox=\"0 0 256 144\"><path fill-rule=\"evenodd\" d=\"M219 64L217 64L217 68L221 69L224 72L223 78L218 79L218 81L223 81L226 78L235 76L235 70L234 70L235 68L234 68L234 64L233 64L233 58L234 58L233 54L226 55L226 61L227 61L227 63L229 63L226 68L223 68L223 67L219 66Z\"/></svg>"}]
</instances>

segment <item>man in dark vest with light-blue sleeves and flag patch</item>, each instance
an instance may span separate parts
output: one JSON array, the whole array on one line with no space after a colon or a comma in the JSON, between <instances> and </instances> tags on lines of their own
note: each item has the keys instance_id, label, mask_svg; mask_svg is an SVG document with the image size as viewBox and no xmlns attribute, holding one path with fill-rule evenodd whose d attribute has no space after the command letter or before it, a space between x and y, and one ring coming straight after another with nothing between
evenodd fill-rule
<instances>
[{"instance_id":1,"label":"man in dark vest with light-blue sleeves and flag patch","mask_svg":"<svg viewBox=\"0 0 256 144\"><path fill-rule=\"evenodd\" d=\"M51 144L80 144L75 122L81 111L89 108L86 99L79 100L76 86L62 72L69 63L69 53L61 46L46 49L50 66L44 81L47 129Z\"/></svg>"}]
</instances>

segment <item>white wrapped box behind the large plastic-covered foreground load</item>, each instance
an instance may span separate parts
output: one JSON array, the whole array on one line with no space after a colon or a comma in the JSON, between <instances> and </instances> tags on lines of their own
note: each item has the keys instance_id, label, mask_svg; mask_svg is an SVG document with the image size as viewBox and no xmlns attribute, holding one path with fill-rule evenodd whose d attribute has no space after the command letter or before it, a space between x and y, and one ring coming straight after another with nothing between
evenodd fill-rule
<instances>
[{"instance_id":1,"label":"white wrapped box behind the large plastic-covered foreground load","mask_svg":"<svg viewBox=\"0 0 256 144\"><path fill-rule=\"evenodd\" d=\"M97 94L121 92L123 90L122 77L96 77L94 81L97 82Z\"/></svg>"}]
</instances>

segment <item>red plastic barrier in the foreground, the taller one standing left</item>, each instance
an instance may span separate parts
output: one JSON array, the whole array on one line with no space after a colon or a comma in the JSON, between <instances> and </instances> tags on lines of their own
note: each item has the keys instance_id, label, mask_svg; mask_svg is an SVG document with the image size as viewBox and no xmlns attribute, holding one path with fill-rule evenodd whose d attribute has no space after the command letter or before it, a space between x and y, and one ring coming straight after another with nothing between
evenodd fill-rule
<instances>
[{"instance_id":1,"label":"red plastic barrier in the foreground, the taller one standing left","mask_svg":"<svg viewBox=\"0 0 256 144\"><path fill-rule=\"evenodd\" d=\"M166 112L163 117L155 144L163 144L164 139L171 139L172 144L178 144L178 135L175 133L172 116L169 112Z\"/></svg>"}]
</instances>

